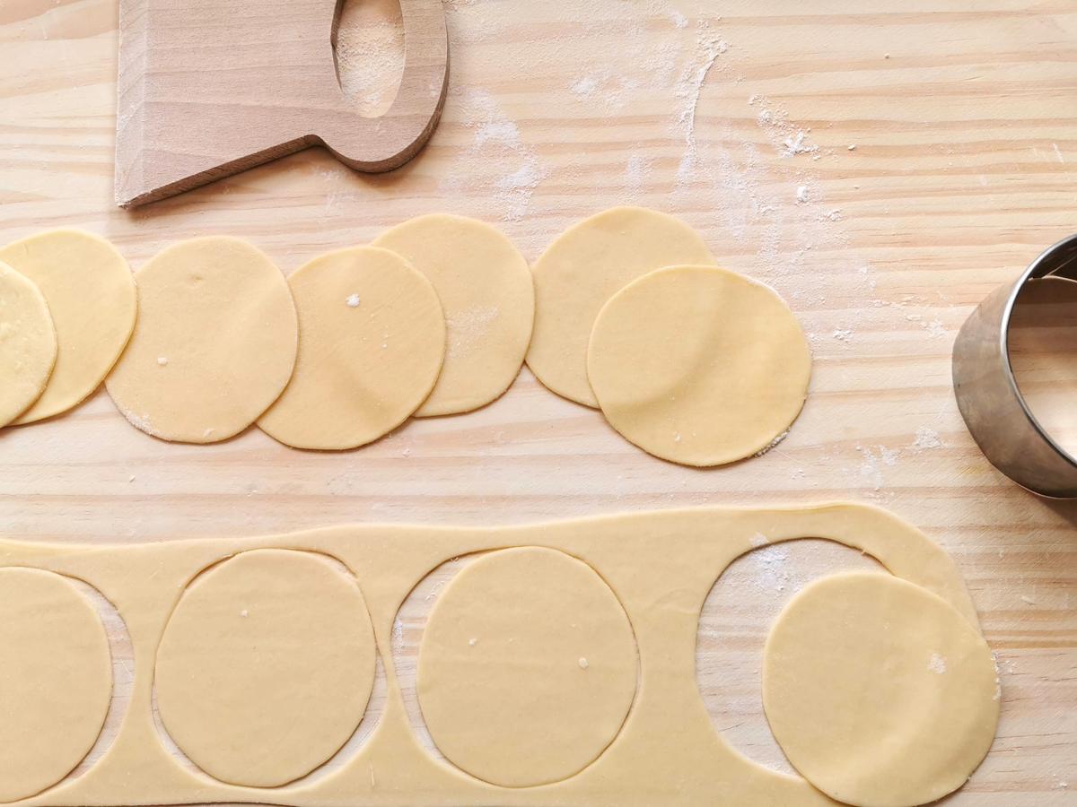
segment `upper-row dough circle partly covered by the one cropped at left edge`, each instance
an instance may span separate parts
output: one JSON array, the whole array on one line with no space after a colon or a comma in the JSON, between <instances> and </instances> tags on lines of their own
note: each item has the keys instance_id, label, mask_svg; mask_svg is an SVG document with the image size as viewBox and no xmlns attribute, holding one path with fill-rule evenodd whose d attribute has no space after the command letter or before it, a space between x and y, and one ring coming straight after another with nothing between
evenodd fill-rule
<instances>
[{"instance_id":1,"label":"upper-row dough circle partly covered by the one cropped at left edge","mask_svg":"<svg viewBox=\"0 0 1077 807\"><path fill-rule=\"evenodd\" d=\"M41 291L56 329L56 365L44 392L13 421L34 423L85 400L130 338L138 303L127 261L104 239L51 230L0 249L0 261Z\"/></svg>"}]
</instances>

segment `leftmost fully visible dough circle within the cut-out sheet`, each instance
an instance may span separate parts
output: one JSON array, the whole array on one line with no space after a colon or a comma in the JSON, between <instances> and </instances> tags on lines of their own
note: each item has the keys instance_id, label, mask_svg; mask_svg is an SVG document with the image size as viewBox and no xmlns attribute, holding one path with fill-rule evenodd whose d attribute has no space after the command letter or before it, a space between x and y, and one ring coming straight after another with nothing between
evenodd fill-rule
<instances>
[{"instance_id":1,"label":"leftmost fully visible dough circle within the cut-out sheet","mask_svg":"<svg viewBox=\"0 0 1077 807\"><path fill-rule=\"evenodd\" d=\"M272 788L348 741L374 672L354 578L322 555L260 549L191 583L165 627L155 686L165 728L198 767Z\"/></svg>"}]
</instances>

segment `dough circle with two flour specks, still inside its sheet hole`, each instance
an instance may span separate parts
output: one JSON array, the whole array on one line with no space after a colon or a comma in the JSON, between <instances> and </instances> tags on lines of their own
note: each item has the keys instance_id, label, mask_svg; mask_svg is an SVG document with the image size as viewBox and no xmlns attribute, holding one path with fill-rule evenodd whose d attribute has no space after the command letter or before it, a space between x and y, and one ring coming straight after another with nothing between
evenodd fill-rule
<instances>
[{"instance_id":1,"label":"dough circle with two flour specks, still inside its sheet hole","mask_svg":"<svg viewBox=\"0 0 1077 807\"><path fill-rule=\"evenodd\" d=\"M567 779L620 732L635 696L628 617L590 566L534 547L466 566L419 651L423 720L438 749L493 784Z\"/></svg>"}]
</instances>

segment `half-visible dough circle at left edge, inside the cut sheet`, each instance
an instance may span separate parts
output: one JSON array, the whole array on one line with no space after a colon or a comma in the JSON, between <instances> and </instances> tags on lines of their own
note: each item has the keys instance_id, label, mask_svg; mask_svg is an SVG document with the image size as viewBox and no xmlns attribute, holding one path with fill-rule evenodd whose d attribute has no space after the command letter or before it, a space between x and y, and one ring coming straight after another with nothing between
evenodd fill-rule
<instances>
[{"instance_id":1,"label":"half-visible dough circle at left edge, inside the cut sheet","mask_svg":"<svg viewBox=\"0 0 1077 807\"><path fill-rule=\"evenodd\" d=\"M89 600L51 571L0 569L0 803L71 773L111 699L109 640Z\"/></svg>"}]
</instances>

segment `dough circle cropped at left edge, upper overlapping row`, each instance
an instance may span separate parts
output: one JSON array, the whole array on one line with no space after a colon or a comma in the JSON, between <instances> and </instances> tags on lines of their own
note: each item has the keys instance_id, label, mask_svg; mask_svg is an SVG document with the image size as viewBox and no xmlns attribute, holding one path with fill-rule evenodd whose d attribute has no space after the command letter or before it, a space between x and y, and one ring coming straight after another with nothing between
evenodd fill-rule
<instances>
[{"instance_id":1,"label":"dough circle cropped at left edge, upper overlapping row","mask_svg":"<svg viewBox=\"0 0 1077 807\"><path fill-rule=\"evenodd\" d=\"M0 261L0 426L41 397L56 364L56 329L40 289Z\"/></svg>"}]
</instances>

